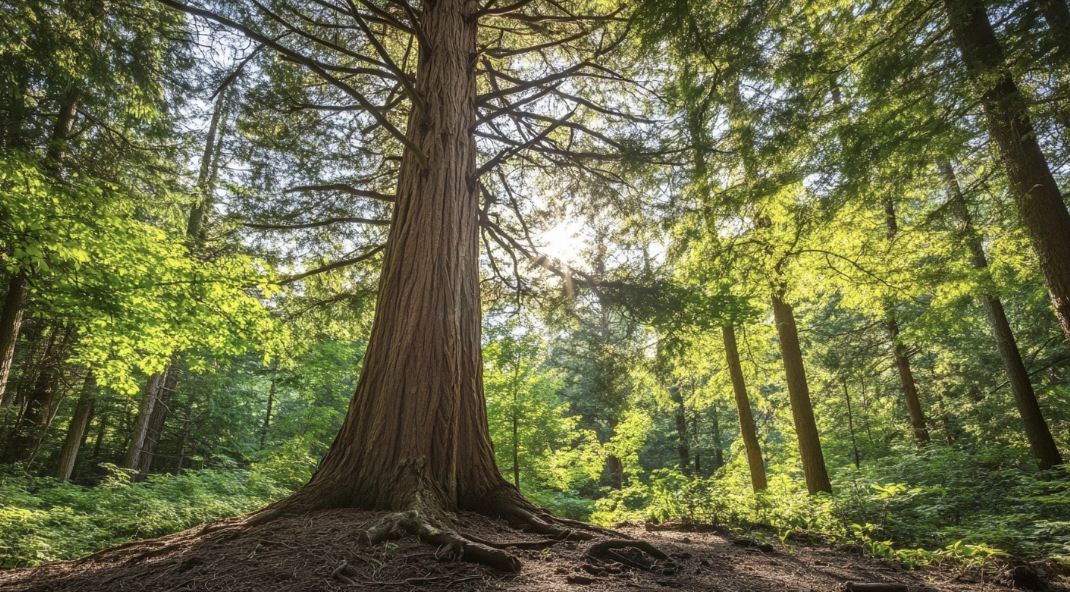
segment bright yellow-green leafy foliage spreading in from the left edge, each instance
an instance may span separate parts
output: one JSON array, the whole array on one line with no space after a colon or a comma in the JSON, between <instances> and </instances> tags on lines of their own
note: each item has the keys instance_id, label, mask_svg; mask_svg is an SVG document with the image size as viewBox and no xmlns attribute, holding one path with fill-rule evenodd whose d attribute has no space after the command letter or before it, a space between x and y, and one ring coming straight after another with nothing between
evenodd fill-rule
<instances>
[{"instance_id":1,"label":"bright yellow-green leafy foliage spreading in from the left edge","mask_svg":"<svg viewBox=\"0 0 1070 592\"><path fill-rule=\"evenodd\" d=\"M137 373L175 352L236 354L274 331L254 261L190 257L107 183L52 181L12 156L0 161L0 184L3 267L29 276L34 315L77 328L72 362L92 366L100 384L135 392Z\"/></svg>"}]
</instances>

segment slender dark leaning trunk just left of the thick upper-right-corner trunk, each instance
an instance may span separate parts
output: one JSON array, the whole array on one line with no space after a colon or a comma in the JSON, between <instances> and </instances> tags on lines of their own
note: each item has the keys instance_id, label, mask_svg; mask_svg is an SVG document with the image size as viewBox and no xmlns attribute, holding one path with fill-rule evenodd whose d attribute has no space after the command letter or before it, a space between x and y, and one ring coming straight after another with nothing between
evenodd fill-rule
<instances>
[{"instance_id":1,"label":"slender dark leaning trunk just left of the thick upper-right-corner trunk","mask_svg":"<svg viewBox=\"0 0 1070 592\"><path fill-rule=\"evenodd\" d=\"M969 214L969 207L966 198L962 194L959 181L954 176L954 169L948 162L939 163L941 173L947 186L949 201L952 210L959 217L966 246L969 248L969 263L978 269L985 276L989 274L989 260L984 255L984 247L981 243L981 236L974 227L973 217ZM987 277L985 277L987 279ZM1040 403L1037 394L1033 390L1029 381L1029 373L1025 369L1022 361L1022 353L1014 339L1014 332L1011 331L1010 322L1007 320L1007 313L1004 310L1003 302L998 298L989 294L981 294L981 304L984 306L985 316L989 319L989 327L996 339L996 348L999 350L999 361L1003 362L1004 371L1010 382L1011 393L1014 395L1014 403L1018 412L1022 416L1022 424L1025 428L1025 437L1029 441L1029 450L1043 470L1052 469L1063 464L1063 456L1055 445L1052 431L1044 421L1044 415L1040 411Z\"/></svg>"}]
</instances>

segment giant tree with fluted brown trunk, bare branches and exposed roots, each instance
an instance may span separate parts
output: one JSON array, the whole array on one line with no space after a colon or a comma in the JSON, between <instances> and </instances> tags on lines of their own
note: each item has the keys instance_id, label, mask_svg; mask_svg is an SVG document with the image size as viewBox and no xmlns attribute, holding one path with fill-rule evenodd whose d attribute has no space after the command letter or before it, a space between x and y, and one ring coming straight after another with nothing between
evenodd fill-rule
<instances>
[{"instance_id":1,"label":"giant tree with fluted brown trunk, bare branches and exposed roots","mask_svg":"<svg viewBox=\"0 0 1070 592\"><path fill-rule=\"evenodd\" d=\"M365 65L374 66L362 67L361 72L378 72L408 100L408 122L402 132L388 117L388 105L372 104L361 88L336 76L346 69L285 45L281 37L261 32L260 25L238 22L173 0L160 1L240 31L286 60L305 66L325 85L342 91L354 107L374 119L376 127L389 133L403 147L395 195L383 197L393 201L389 238L367 353L345 422L311 481L251 519L268 520L286 513L328 507L401 511L371 528L368 538L379 541L408 530L419 533L424 541L448 545L467 560L519 570L515 557L465 538L443 514L471 510L536 531L565 533L563 525L554 523L561 519L533 505L505 481L491 451L479 340L480 223L500 244L517 246L519 242L505 236L480 210L480 192L489 192L479 177L525 151L568 160L568 150L559 147L550 134L566 125L569 130L584 130L568 119L581 105L595 110L599 107L572 97L574 108L564 118L525 113L519 109L521 104L532 104L553 92L567 78L592 76L594 63L582 60L545 77L521 80L480 60L480 52L486 56L488 50L477 46L478 28L487 18L515 17L517 27L528 27L532 32L548 30L548 24L583 22L579 30L584 34L551 39L530 49L546 50L601 30L606 36L601 43L594 43L598 47L595 52L601 52L611 49L614 41L612 33L598 24L611 19L523 12L525 6L538 5L532 0L503 6L494 0L482 6L474 0L433 0L418 11L403 1L384 7L362 0L332 4L331 11L322 15L338 19L338 28L363 40L358 46L345 47L317 36L315 30L299 28L315 29L308 25L315 20L290 22L256 4L264 22L296 33L291 36L300 36L318 50L358 56ZM295 5L290 9L301 10ZM414 76L385 49L386 41L380 34L386 30L400 31L416 42ZM361 50L374 56L363 56ZM501 50L519 55L525 49ZM494 89L483 96L477 95L477 65ZM599 76L607 76L607 72L598 66ZM557 96L568 101L569 95ZM516 101L507 104L508 100ZM480 106L488 111L482 121ZM477 167L476 128L487 118L495 117L511 118L528 130L533 123L544 126L518 140L503 136L491 125L482 137L496 138L505 148ZM592 527L582 528L590 533Z\"/></svg>"}]
</instances>

